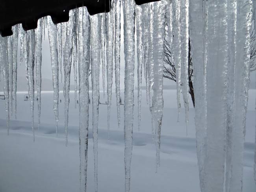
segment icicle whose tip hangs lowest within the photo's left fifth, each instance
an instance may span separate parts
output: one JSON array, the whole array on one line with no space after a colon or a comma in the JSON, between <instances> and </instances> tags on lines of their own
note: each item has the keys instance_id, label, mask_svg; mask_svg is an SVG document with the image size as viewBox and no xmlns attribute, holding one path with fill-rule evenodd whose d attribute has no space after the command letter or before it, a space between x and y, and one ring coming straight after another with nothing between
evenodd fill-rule
<instances>
[{"instance_id":1,"label":"icicle whose tip hangs lowest within the photo's left fifth","mask_svg":"<svg viewBox=\"0 0 256 192\"><path fill-rule=\"evenodd\" d=\"M33 141L35 142L35 130L34 130L34 98L35 98L35 89L34 89L34 66L35 66L35 30L30 30L28 32L28 42L29 42L29 51L28 51L28 81L29 81L29 101L30 101L30 111L31 111L31 120L32 120L32 132L33 132Z\"/></svg>"}]
</instances>

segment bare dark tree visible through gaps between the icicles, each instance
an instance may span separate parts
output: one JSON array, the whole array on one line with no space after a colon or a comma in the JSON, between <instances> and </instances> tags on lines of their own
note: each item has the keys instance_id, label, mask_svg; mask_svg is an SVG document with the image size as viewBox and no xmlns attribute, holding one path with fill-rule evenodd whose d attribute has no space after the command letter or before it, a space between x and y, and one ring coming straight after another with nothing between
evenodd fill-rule
<instances>
[{"instance_id":1,"label":"bare dark tree visible through gaps between the icicles","mask_svg":"<svg viewBox=\"0 0 256 192\"><path fill-rule=\"evenodd\" d=\"M250 71L256 70L256 34L255 30L252 31L250 38ZM164 59L164 69L163 69L163 77L170 79L176 82L176 69L175 64L173 63L173 57L171 52L171 46L169 42L165 39L164 42L165 46L165 59ZM189 39L189 94L191 96L191 100L193 102L193 106L195 107L195 95L193 89L193 63L192 63L192 54L191 54L191 46L190 46L190 39Z\"/></svg>"}]
</instances>

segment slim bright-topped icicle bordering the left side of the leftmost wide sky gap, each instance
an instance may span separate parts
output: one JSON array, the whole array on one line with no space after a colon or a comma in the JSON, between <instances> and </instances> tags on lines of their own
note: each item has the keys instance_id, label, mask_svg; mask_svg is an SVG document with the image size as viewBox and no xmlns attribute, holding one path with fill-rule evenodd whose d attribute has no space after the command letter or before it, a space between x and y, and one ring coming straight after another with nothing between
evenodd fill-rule
<instances>
[{"instance_id":1,"label":"slim bright-topped icicle bordering the left side of the leftmost wide sky gap","mask_svg":"<svg viewBox=\"0 0 256 192\"><path fill-rule=\"evenodd\" d=\"M37 29L35 31L36 44L35 44L35 71L36 71L36 83L37 83L37 115L38 115L38 130L40 127L41 117L41 65L42 65L42 20L39 20Z\"/></svg>"}]
</instances>

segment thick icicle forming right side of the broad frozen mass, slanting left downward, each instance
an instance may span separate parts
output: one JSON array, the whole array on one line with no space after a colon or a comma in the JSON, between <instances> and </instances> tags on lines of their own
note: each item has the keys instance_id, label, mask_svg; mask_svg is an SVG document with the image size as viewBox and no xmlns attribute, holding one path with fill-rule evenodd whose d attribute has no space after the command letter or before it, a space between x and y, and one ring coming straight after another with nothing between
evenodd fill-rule
<instances>
[{"instance_id":1,"label":"thick icicle forming right side of the broad frozen mass, slanting left downward","mask_svg":"<svg viewBox=\"0 0 256 192\"><path fill-rule=\"evenodd\" d=\"M234 124L232 130L231 181L229 192L243 189L243 152L250 74L250 0L237 1ZM223 33L222 33L223 34ZM237 69L237 70L236 70Z\"/></svg>"}]
</instances>

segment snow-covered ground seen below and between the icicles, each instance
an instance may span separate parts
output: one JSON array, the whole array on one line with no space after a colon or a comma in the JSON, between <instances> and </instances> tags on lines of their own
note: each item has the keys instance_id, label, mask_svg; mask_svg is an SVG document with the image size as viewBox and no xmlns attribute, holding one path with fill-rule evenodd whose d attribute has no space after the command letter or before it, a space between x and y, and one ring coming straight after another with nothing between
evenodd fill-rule
<instances>
[{"instance_id":1,"label":"snow-covered ground seen below and between the icicles","mask_svg":"<svg viewBox=\"0 0 256 192\"><path fill-rule=\"evenodd\" d=\"M53 93L42 93L40 131L32 141L29 102L25 92L17 94L17 120L10 122L7 136L4 100L0 100L0 192L70 192L79 191L78 107L74 108L74 93L70 93L69 146L64 141L63 95L60 92L59 135L55 135ZM91 94L91 93L90 93ZM177 122L176 90L164 90L164 111L161 134L161 167L155 173L155 146L152 144L151 115L142 92L141 131L137 131L137 92L134 107L134 149L131 167L131 191L134 192L199 192L195 148L194 109L189 111L189 137L186 137L184 110ZM123 96L123 91L121 91ZM253 158L255 138L255 96L249 91L247 134L244 158L244 190L255 192ZM100 102L105 103L100 92ZM191 102L190 102L191 103ZM182 104L183 105L183 104ZM91 107L91 106L90 106ZM91 110L91 109L90 109ZM90 111L90 119L91 119ZM124 191L123 106L122 124L117 126L115 94L112 97L111 131L108 141L107 105L99 109L98 191ZM37 103L35 103L37 127ZM90 122L91 128L91 122ZM93 142L89 133L87 191L94 191Z\"/></svg>"}]
</instances>

